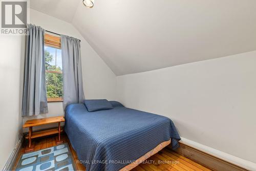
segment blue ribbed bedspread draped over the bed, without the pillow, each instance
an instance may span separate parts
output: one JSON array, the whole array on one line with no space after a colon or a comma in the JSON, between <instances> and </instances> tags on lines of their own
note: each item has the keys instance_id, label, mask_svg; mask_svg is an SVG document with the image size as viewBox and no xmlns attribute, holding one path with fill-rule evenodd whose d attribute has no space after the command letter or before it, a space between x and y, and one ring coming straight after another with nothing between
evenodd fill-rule
<instances>
[{"instance_id":1,"label":"blue ribbed bedspread draped over the bed, without the pillow","mask_svg":"<svg viewBox=\"0 0 256 171\"><path fill-rule=\"evenodd\" d=\"M119 170L163 141L171 138L177 148L180 140L169 118L122 105L88 112L84 104L70 104L65 131L87 171Z\"/></svg>"}]
</instances>

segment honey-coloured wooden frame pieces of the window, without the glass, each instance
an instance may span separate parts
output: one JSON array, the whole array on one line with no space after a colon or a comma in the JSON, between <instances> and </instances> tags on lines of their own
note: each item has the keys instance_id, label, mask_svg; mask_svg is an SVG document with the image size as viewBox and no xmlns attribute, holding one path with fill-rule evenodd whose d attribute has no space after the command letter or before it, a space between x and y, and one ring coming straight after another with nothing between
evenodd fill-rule
<instances>
[{"instance_id":1,"label":"honey-coloured wooden frame pieces of the window, without the glass","mask_svg":"<svg viewBox=\"0 0 256 171\"><path fill-rule=\"evenodd\" d=\"M45 46L61 50L60 37L45 33ZM46 70L46 73L63 74L63 72L61 71L50 71L50 70ZM63 90L63 87L62 87L62 90ZM49 97L49 98L47 97L47 102L62 102L62 101L63 101L63 97Z\"/></svg>"}]
</instances>

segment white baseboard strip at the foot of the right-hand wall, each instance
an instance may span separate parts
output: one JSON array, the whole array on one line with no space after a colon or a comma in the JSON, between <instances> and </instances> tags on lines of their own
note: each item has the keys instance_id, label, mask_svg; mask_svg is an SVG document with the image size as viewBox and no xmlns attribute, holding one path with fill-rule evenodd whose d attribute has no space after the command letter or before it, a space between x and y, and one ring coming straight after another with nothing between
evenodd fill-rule
<instances>
[{"instance_id":1,"label":"white baseboard strip at the foot of the right-hand wall","mask_svg":"<svg viewBox=\"0 0 256 171\"><path fill-rule=\"evenodd\" d=\"M183 137L181 137L181 142L185 145L188 145L188 146L194 147L196 149L199 149L202 152L205 152L209 155L218 157L218 158L220 158L222 160L225 160L229 163L238 165L238 166L243 167L243 168L248 169L248 170L256 171L256 163L241 159L241 158L236 157L236 156L232 156L230 154L221 152L221 151L219 151L215 148L208 147L206 145L197 143L195 141L191 141L191 140L183 138Z\"/></svg>"}]
</instances>

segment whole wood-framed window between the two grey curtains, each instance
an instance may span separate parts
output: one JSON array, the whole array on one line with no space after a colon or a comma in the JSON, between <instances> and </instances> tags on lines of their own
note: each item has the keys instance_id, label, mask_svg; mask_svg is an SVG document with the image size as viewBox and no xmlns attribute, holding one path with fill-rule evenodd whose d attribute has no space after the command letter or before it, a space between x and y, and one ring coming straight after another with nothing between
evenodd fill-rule
<instances>
[{"instance_id":1,"label":"whole wood-framed window between the two grey curtains","mask_svg":"<svg viewBox=\"0 0 256 171\"><path fill-rule=\"evenodd\" d=\"M45 35L47 101L63 101L60 37Z\"/></svg>"}]
</instances>

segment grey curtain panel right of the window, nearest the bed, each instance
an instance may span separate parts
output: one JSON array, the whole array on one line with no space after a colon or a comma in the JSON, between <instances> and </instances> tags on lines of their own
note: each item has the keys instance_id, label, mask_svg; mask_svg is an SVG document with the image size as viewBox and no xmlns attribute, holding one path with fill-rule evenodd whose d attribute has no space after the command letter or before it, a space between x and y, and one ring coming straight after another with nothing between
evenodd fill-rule
<instances>
[{"instance_id":1,"label":"grey curtain panel right of the window, nearest the bed","mask_svg":"<svg viewBox=\"0 0 256 171\"><path fill-rule=\"evenodd\" d=\"M61 35L61 55L63 71L63 109L70 103L82 103L82 68L80 41L74 37Z\"/></svg>"}]
</instances>

